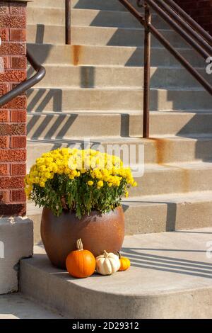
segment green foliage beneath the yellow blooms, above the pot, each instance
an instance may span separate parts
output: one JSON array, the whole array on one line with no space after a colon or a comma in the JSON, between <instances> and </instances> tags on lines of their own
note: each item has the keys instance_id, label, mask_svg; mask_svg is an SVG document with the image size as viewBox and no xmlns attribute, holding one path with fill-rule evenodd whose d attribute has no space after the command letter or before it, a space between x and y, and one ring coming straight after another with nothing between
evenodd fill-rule
<instances>
[{"instance_id":1,"label":"green foliage beneath the yellow blooms, above the pot","mask_svg":"<svg viewBox=\"0 0 212 333\"><path fill-rule=\"evenodd\" d=\"M76 179L69 179L66 174L54 174L48 179L45 187L33 185L30 198L36 205L52 210L54 215L61 215L62 210L72 210L81 219L92 210L109 213L121 205L122 196L126 193L126 180L122 179L119 186L108 186L107 182L99 188L98 179L93 179L93 186L88 185L90 176L81 174Z\"/></svg>"}]
</instances>

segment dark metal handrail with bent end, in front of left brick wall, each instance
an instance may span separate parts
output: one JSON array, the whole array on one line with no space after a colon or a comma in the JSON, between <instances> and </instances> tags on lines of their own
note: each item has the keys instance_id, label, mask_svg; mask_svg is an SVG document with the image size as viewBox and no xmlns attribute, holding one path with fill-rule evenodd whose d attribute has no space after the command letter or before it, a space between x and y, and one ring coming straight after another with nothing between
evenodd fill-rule
<instances>
[{"instance_id":1,"label":"dark metal handrail with bent end, in front of left brick wall","mask_svg":"<svg viewBox=\"0 0 212 333\"><path fill-rule=\"evenodd\" d=\"M30 79L27 79L20 84L18 84L11 91L8 91L4 96L0 97L0 106L4 106L4 104L10 102L13 98L16 98L19 95L22 95L25 91L30 89L32 86L35 86L38 82L40 82L46 74L45 67L43 67L39 62L35 60L33 55L31 55L30 51L27 51L27 60L30 62L32 67L35 69L36 73Z\"/></svg>"}]
</instances>

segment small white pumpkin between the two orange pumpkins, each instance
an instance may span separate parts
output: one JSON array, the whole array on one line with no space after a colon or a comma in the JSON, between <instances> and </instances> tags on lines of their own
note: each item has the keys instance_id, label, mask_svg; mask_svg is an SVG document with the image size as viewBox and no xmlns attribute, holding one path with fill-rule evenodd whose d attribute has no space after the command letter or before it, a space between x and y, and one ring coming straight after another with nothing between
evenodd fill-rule
<instances>
[{"instance_id":1,"label":"small white pumpkin between the two orange pumpkins","mask_svg":"<svg viewBox=\"0 0 212 333\"><path fill-rule=\"evenodd\" d=\"M120 268L119 257L114 253L107 253L98 256L96 259L96 270L102 275L111 275Z\"/></svg>"}]
</instances>

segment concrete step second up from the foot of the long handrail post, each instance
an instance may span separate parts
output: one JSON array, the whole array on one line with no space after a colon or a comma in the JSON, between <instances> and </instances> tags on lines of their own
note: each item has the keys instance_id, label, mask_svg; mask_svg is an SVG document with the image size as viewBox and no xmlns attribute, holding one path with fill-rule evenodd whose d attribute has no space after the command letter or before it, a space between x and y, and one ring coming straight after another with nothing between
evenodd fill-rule
<instances>
[{"instance_id":1,"label":"concrete step second up from the foot of the long handrail post","mask_svg":"<svg viewBox=\"0 0 212 333\"><path fill-rule=\"evenodd\" d=\"M143 90L133 88L34 88L28 91L28 111L142 110ZM151 89L151 111L208 109L211 95L201 88Z\"/></svg>"}]
</instances>

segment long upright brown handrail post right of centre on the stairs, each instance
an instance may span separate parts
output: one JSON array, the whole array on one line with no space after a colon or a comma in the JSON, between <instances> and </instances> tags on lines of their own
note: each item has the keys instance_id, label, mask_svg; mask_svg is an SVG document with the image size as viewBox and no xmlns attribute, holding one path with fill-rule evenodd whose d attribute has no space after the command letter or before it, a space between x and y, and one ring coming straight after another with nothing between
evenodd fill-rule
<instances>
[{"instance_id":1,"label":"long upright brown handrail post right of centre on the stairs","mask_svg":"<svg viewBox=\"0 0 212 333\"><path fill-rule=\"evenodd\" d=\"M144 74L143 74L143 137L149 137L150 77L151 77L151 23L150 7L144 4Z\"/></svg>"}]
</instances>

